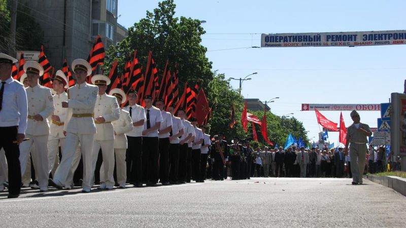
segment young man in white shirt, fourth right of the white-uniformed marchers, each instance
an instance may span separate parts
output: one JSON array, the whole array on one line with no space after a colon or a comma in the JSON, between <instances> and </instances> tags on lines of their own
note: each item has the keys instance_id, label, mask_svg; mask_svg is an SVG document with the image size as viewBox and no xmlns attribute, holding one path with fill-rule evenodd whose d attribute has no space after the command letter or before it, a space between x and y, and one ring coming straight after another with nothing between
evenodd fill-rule
<instances>
[{"instance_id":1,"label":"young man in white shirt, fourth right of the white-uniformed marchers","mask_svg":"<svg viewBox=\"0 0 406 228\"><path fill-rule=\"evenodd\" d=\"M175 117L175 105L168 107L168 111L172 115L172 131L169 137L169 166L171 167L169 171L169 182L171 184L179 184L178 171L179 171L179 141L180 137L184 134L184 126L182 120L179 117ZM186 145L187 147L187 145Z\"/></svg>"}]
</instances>

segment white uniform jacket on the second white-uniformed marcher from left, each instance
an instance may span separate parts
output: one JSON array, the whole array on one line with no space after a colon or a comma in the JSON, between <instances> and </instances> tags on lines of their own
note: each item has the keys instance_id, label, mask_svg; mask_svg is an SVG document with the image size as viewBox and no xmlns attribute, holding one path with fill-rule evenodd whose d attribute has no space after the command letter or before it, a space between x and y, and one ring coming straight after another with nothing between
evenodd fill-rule
<instances>
[{"instance_id":1,"label":"white uniform jacket on the second white-uniformed marcher from left","mask_svg":"<svg viewBox=\"0 0 406 228\"><path fill-rule=\"evenodd\" d=\"M62 107L62 102L67 101L67 93L63 92L61 94L55 94L53 95L53 100L55 106L53 115L58 116L60 122L55 122L52 121L50 117L48 118L50 122L49 134L54 137L65 138L66 136L63 134L63 124L64 124L63 121L65 121L66 119L67 108Z\"/></svg>"}]
</instances>

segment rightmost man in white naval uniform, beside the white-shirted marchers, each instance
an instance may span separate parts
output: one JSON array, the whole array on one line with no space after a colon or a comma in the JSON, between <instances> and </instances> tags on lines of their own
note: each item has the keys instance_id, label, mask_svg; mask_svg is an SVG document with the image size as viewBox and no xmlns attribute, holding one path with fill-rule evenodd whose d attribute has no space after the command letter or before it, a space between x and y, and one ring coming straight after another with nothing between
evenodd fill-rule
<instances>
[{"instance_id":1,"label":"rightmost man in white naval uniform, beside the white-shirted marchers","mask_svg":"<svg viewBox=\"0 0 406 228\"><path fill-rule=\"evenodd\" d=\"M112 89L109 92L109 95L115 96L117 102L124 104L127 101L124 91L121 89ZM120 118L116 121L113 121L114 127L114 155L116 157L116 173L117 173L117 183L119 188L125 188L125 181L127 179L127 166L125 162L125 153L127 149L127 137L125 133L132 131L132 120L130 113L128 111L120 108ZM103 169L103 165L101 166ZM100 176L101 176L100 169Z\"/></svg>"}]
</instances>

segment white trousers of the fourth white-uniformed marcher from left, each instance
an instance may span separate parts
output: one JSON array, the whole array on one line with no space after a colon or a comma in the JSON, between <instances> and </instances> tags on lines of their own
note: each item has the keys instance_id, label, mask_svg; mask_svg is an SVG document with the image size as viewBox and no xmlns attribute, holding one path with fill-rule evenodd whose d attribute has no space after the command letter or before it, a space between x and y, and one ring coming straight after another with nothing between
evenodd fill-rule
<instances>
[{"instance_id":1,"label":"white trousers of the fourth white-uniformed marcher from left","mask_svg":"<svg viewBox=\"0 0 406 228\"><path fill-rule=\"evenodd\" d=\"M103 175L100 172L100 183L114 186L114 140L94 140L93 141L93 172L96 169L98 151L101 148L103 155Z\"/></svg>"}]
</instances>

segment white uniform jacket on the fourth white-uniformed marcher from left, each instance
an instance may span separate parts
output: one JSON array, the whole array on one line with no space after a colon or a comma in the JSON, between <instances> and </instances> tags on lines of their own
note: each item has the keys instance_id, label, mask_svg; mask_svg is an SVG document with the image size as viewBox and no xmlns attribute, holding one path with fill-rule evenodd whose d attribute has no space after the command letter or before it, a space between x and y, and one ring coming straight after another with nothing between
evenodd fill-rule
<instances>
[{"instance_id":1,"label":"white uniform jacket on the fourth white-uniformed marcher from left","mask_svg":"<svg viewBox=\"0 0 406 228\"><path fill-rule=\"evenodd\" d=\"M97 134L94 135L94 140L114 140L114 128L112 121L120 118L120 108L118 107L117 98L107 94L97 95L96 105L94 107L94 116L103 117L105 123L98 124L96 120Z\"/></svg>"}]
</instances>

